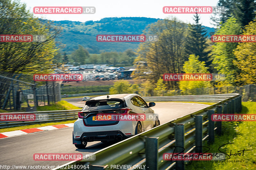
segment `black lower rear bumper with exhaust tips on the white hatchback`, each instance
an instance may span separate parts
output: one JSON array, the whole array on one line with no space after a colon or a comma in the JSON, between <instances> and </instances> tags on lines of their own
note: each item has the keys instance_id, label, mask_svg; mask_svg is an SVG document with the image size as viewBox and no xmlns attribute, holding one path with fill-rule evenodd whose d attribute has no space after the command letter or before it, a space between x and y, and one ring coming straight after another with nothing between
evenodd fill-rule
<instances>
[{"instance_id":1,"label":"black lower rear bumper with exhaust tips on the white hatchback","mask_svg":"<svg viewBox=\"0 0 256 170\"><path fill-rule=\"evenodd\" d=\"M98 131L98 132L84 132L79 138L75 138L75 140L82 141L83 138L86 138L88 142L111 141L111 140L121 141L123 139L129 138L132 136L133 135L125 135L121 131Z\"/></svg>"}]
</instances>

